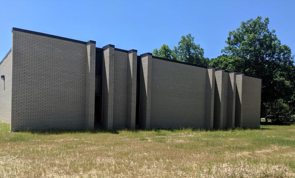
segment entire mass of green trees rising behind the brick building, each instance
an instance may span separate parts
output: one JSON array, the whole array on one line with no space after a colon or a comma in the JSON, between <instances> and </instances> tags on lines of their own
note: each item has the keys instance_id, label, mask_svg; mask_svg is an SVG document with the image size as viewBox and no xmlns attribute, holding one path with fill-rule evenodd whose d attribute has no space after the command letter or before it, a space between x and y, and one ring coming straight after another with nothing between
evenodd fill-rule
<instances>
[{"instance_id":1,"label":"entire mass of green trees rising behind the brick building","mask_svg":"<svg viewBox=\"0 0 295 178\"><path fill-rule=\"evenodd\" d=\"M261 116L288 118L287 110L295 112L294 55L289 46L281 44L275 30L269 30L268 25L269 18L262 20L260 16L242 21L237 29L229 32L225 41L227 46L221 50L223 54L210 61L190 33L181 36L173 50L163 44L159 50L154 49L153 55L257 76L262 79ZM271 108L280 107L284 112L271 113Z\"/></svg>"}]
</instances>

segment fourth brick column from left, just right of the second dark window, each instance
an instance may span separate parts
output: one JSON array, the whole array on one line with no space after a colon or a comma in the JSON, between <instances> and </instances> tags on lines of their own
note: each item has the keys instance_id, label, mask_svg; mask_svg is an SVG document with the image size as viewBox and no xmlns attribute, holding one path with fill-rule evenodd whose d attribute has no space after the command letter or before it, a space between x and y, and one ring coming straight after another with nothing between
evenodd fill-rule
<instances>
[{"instance_id":1,"label":"fourth brick column from left, just right of the second dark window","mask_svg":"<svg viewBox=\"0 0 295 178\"><path fill-rule=\"evenodd\" d=\"M152 89L152 54L141 56L140 71L140 126L150 129L151 124L151 89Z\"/></svg>"}]
</instances>

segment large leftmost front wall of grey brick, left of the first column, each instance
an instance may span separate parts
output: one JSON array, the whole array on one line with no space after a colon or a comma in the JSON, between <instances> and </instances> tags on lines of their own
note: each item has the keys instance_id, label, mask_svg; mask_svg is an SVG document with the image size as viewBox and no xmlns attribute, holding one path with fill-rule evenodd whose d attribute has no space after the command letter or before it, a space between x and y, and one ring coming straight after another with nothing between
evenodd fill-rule
<instances>
[{"instance_id":1,"label":"large leftmost front wall of grey brick, left of the first column","mask_svg":"<svg viewBox=\"0 0 295 178\"><path fill-rule=\"evenodd\" d=\"M19 31L12 44L11 129L84 128L86 44Z\"/></svg>"}]
</instances>

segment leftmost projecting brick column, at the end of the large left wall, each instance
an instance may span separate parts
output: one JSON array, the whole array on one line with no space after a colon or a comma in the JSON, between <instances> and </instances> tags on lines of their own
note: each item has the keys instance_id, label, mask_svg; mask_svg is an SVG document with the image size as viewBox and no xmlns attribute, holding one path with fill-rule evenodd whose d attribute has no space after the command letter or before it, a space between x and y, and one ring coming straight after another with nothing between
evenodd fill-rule
<instances>
[{"instance_id":1,"label":"leftmost projecting brick column, at the end of the large left wall","mask_svg":"<svg viewBox=\"0 0 295 178\"><path fill-rule=\"evenodd\" d=\"M85 69L85 128L94 129L95 105L95 41L87 42L87 59Z\"/></svg>"}]
</instances>

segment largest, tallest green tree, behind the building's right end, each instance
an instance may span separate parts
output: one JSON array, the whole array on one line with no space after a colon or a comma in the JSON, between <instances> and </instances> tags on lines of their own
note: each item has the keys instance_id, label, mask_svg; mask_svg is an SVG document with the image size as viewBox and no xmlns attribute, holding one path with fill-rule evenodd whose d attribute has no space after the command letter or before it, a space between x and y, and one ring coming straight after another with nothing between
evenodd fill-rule
<instances>
[{"instance_id":1,"label":"largest, tallest green tree, behind the building's right end","mask_svg":"<svg viewBox=\"0 0 295 178\"><path fill-rule=\"evenodd\" d=\"M210 62L216 67L242 70L262 78L262 117L265 103L278 99L294 103L294 56L290 47L281 44L275 30L269 30L268 24L269 19L263 21L260 16L241 22L239 28L229 32L228 45L222 50L227 56L218 56Z\"/></svg>"}]
</instances>

